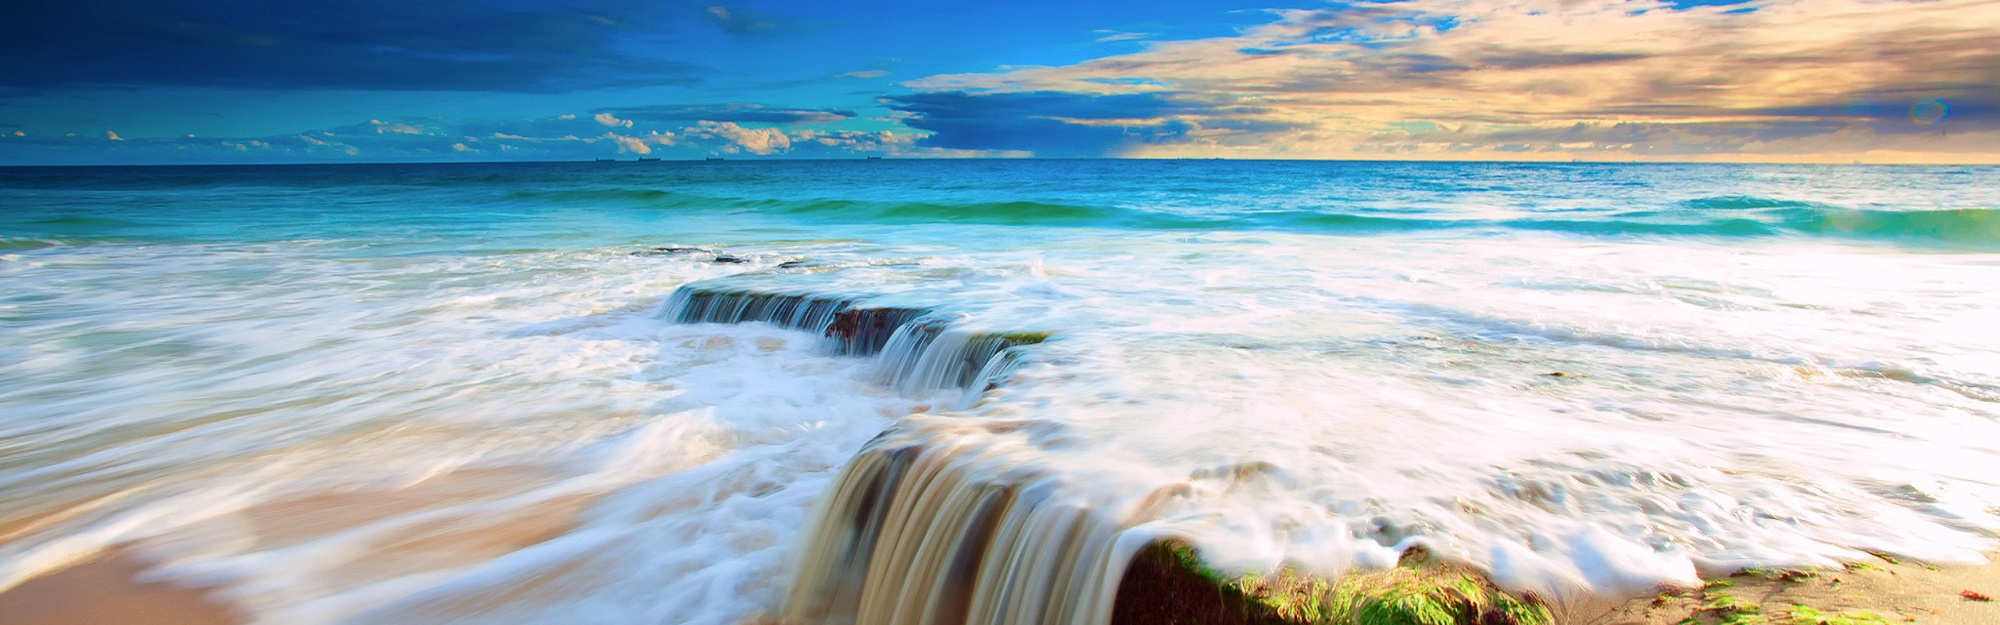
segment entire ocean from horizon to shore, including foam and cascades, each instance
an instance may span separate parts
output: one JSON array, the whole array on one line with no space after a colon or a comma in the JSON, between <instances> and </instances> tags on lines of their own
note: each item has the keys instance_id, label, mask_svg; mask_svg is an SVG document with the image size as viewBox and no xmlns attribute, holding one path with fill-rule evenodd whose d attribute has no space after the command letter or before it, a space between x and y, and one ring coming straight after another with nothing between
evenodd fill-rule
<instances>
[{"instance_id":1,"label":"entire ocean from horizon to shore, including foam and cascades","mask_svg":"<svg viewBox=\"0 0 2000 625\"><path fill-rule=\"evenodd\" d=\"M0 589L1102 623L1172 537L1620 595L1982 561L1996 475L1992 166L0 168Z\"/></svg>"}]
</instances>

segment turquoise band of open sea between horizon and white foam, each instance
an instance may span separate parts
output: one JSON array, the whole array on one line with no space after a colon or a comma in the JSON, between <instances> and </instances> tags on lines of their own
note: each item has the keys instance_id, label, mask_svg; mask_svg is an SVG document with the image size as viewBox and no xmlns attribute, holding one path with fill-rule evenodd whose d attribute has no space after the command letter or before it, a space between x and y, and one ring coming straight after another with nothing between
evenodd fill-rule
<instances>
[{"instance_id":1,"label":"turquoise band of open sea between horizon and white foam","mask_svg":"<svg viewBox=\"0 0 2000 625\"><path fill-rule=\"evenodd\" d=\"M1980 166L1404 162L618 162L14 168L34 240L458 236L540 246L736 226L996 224L1382 234L1804 236L2000 244ZM714 232L702 226L722 220Z\"/></svg>"}]
</instances>

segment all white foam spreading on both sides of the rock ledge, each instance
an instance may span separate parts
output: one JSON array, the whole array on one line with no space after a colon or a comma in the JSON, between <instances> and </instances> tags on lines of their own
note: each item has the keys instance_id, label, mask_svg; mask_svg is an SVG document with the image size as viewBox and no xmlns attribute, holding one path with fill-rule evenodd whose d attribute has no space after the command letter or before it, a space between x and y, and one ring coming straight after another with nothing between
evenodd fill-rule
<instances>
[{"instance_id":1,"label":"all white foam spreading on both sides of the rock ledge","mask_svg":"<svg viewBox=\"0 0 2000 625\"><path fill-rule=\"evenodd\" d=\"M266 623L734 623L774 609L832 473L920 407L1080 507L1182 487L1134 531L1230 569L1426 545L1516 587L1618 591L1858 549L1974 561L2000 531L1990 254L870 236L764 246L836 270L760 280L1054 341L954 411L818 337L656 319L758 262L22 252L10 286L46 300L0 337L0 521L48 521L0 545L0 587L138 541L160 579L224 583ZM480 471L506 479L324 531L256 521Z\"/></svg>"}]
</instances>

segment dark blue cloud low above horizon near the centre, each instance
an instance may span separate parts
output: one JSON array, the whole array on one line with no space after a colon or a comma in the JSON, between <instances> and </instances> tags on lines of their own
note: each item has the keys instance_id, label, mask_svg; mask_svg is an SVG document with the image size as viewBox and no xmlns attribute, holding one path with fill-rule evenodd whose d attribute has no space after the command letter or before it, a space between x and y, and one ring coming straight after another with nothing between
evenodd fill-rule
<instances>
[{"instance_id":1,"label":"dark blue cloud low above horizon near the centre","mask_svg":"<svg viewBox=\"0 0 2000 625\"><path fill-rule=\"evenodd\" d=\"M884 100L888 108L910 114L906 126L932 132L920 142L928 148L1104 156L1120 144L1166 140L1188 132L1184 122L1156 120L1186 112L1184 104L1164 94L924 92Z\"/></svg>"}]
</instances>

